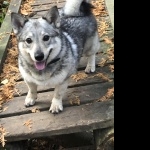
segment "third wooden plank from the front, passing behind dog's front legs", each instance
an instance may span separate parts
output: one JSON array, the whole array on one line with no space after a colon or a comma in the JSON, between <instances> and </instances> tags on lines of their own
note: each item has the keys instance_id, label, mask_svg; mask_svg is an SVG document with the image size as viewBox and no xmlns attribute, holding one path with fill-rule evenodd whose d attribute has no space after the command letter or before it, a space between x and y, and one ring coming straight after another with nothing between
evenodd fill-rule
<instances>
[{"instance_id":1,"label":"third wooden plank from the front, passing behind dog's front legs","mask_svg":"<svg viewBox=\"0 0 150 150\"><path fill-rule=\"evenodd\" d=\"M84 71L78 71L78 73L84 73ZM87 77L79 81L75 81L74 79L70 78L69 87L77 87L108 81L104 78L101 78L100 76L96 76L98 73L105 75L110 80L114 77L113 73L110 72L109 66L99 67L96 68L95 73L86 74ZM25 95L28 92L27 85L24 83L24 81L17 82L15 89L17 92L14 94L14 96ZM52 91L53 89L54 87L50 86L38 86L38 92Z\"/></svg>"}]
</instances>

